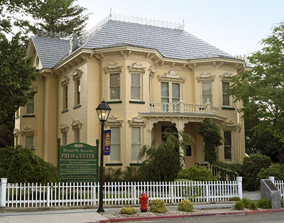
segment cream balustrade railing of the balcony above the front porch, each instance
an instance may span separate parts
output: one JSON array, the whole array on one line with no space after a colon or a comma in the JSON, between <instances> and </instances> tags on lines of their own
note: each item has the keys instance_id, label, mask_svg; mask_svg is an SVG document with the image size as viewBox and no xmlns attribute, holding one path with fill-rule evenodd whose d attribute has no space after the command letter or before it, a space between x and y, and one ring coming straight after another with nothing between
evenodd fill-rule
<instances>
[{"instance_id":1,"label":"cream balustrade railing of the balcony above the front porch","mask_svg":"<svg viewBox=\"0 0 284 223\"><path fill-rule=\"evenodd\" d=\"M197 114L218 114L218 107L206 104L179 103L149 103L149 112L165 113L197 113Z\"/></svg>"}]
</instances>

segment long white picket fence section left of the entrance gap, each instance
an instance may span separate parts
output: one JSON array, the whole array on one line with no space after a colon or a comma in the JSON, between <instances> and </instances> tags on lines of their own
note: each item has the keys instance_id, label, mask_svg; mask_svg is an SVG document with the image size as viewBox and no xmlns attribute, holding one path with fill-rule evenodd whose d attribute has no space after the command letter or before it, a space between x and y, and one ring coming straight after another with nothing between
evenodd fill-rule
<instances>
[{"instance_id":1,"label":"long white picket fence section left of the entrance gap","mask_svg":"<svg viewBox=\"0 0 284 223\"><path fill-rule=\"evenodd\" d=\"M99 205L96 183L6 183L1 178L0 207L80 207ZM145 192L149 200L177 203L226 201L242 197L241 177L236 181L104 183L104 205L138 205Z\"/></svg>"}]
</instances>

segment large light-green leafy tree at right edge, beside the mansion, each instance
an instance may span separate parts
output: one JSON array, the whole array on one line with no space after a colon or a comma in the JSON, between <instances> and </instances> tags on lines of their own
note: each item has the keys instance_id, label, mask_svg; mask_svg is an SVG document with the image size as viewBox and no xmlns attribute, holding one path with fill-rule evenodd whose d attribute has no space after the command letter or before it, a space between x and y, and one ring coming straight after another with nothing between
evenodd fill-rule
<instances>
[{"instance_id":1,"label":"large light-green leafy tree at right edge, beside the mansion","mask_svg":"<svg viewBox=\"0 0 284 223\"><path fill-rule=\"evenodd\" d=\"M264 132L284 143L284 23L275 26L272 35L261 41L263 48L248 57L251 70L233 77L230 94L244 104L246 121L258 119L253 134ZM283 163L284 144L275 147Z\"/></svg>"}]
</instances>

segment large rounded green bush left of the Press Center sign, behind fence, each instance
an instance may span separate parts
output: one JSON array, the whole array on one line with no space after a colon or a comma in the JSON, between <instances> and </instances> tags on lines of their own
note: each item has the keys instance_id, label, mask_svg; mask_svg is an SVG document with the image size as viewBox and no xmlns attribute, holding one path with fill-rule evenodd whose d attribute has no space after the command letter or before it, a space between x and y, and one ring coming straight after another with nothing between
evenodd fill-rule
<instances>
[{"instance_id":1,"label":"large rounded green bush left of the Press Center sign, behind fence","mask_svg":"<svg viewBox=\"0 0 284 223\"><path fill-rule=\"evenodd\" d=\"M0 178L9 183L58 182L58 170L28 148L0 148Z\"/></svg>"}]
</instances>

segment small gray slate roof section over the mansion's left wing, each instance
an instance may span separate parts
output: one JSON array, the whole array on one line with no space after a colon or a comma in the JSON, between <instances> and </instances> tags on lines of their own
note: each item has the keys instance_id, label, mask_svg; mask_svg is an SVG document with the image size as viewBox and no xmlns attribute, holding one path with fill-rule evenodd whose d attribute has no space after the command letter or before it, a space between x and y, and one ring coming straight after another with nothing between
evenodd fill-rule
<instances>
[{"instance_id":1,"label":"small gray slate roof section over the mansion's left wing","mask_svg":"<svg viewBox=\"0 0 284 223\"><path fill-rule=\"evenodd\" d=\"M43 68L54 67L68 53L69 40L32 36Z\"/></svg>"}]
</instances>

